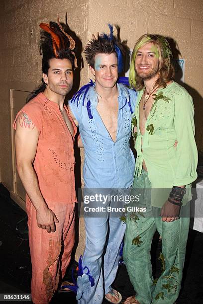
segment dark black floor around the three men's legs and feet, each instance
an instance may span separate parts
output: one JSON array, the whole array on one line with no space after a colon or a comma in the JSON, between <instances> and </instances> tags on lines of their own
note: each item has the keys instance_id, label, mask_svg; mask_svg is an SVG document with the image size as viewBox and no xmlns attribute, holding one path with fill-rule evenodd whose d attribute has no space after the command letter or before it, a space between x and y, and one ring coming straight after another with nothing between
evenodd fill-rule
<instances>
[{"instance_id":1,"label":"dark black floor around the three men's legs and feet","mask_svg":"<svg viewBox=\"0 0 203 304\"><path fill-rule=\"evenodd\" d=\"M26 214L10 199L9 192L0 184L0 293L30 293L31 262L29 254ZM155 236L152 247L152 264L155 277L161 271L158 261L160 243ZM69 279L72 261L66 277ZM119 267L114 287L123 299L134 293L124 264ZM73 293L56 294L54 304L75 304ZM104 301L103 304L108 302ZM190 229L183 288L177 304L203 304L203 233Z\"/></svg>"}]
</instances>

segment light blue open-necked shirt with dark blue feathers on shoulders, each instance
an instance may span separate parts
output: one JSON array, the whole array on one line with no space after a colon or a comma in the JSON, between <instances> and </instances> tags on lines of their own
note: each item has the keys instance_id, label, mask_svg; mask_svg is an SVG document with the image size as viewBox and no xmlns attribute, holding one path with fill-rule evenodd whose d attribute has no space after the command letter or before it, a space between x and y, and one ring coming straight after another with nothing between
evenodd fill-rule
<instances>
[{"instance_id":1,"label":"light blue open-necked shirt with dark blue feathers on shoulders","mask_svg":"<svg viewBox=\"0 0 203 304\"><path fill-rule=\"evenodd\" d=\"M135 160L130 150L131 116L135 109L135 91L117 84L117 137L113 142L97 111L98 96L90 86L69 101L79 123L85 149L83 177L88 188L128 188L132 185ZM85 86L84 86L85 87Z\"/></svg>"}]
</instances>

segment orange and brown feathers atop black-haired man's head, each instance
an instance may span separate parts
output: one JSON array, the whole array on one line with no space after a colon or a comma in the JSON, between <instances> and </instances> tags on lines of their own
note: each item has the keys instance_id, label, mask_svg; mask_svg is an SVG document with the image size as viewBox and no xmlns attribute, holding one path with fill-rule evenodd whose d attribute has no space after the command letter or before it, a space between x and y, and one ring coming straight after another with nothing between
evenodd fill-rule
<instances>
[{"instance_id":1,"label":"orange and brown feathers atop black-haired man's head","mask_svg":"<svg viewBox=\"0 0 203 304\"><path fill-rule=\"evenodd\" d=\"M66 25L68 26L67 22ZM51 35L52 38L52 46L53 46L53 51L54 51L54 55L56 58L59 58L59 53L62 50L65 49L70 49L71 54L73 54L75 60L75 68L78 67L77 65L77 59L75 56L75 53L73 52L73 50L75 49L76 43L74 41L74 39L65 32L65 30L63 29L62 25L59 22L59 17L58 17L58 26L59 28L56 28L54 26L51 26L51 22L50 24L47 23L40 23L39 25L41 27L41 29L43 29L45 32L49 33Z\"/></svg>"}]
</instances>

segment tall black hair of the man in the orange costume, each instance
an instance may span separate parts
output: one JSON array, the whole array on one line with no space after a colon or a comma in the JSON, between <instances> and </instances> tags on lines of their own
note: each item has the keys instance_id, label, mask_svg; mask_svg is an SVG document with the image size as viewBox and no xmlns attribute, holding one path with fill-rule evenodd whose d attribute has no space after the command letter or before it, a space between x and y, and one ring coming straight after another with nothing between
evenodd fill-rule
<instances>
[{"instance_id":1,"label":"tall black hair of the man in the orange costume","mask_svg":"<svg viewBox=\"0 0 203 304\"><path fill-rule=\"evenodd\" d=\"M56 22L51 21L49 25L51 28L53 28L56 35L59 38L61 37L60 45L65 45L66 47L59 48L57 50L57 57L56 57L54 52L55 43L54 40L52 39L51 34L46 32L45 30L40 31L40 39L38 45L39 45L40 55L42 55L42 73L48 75L48 70L50 68L49 60L52 58L69 59L72 64L72 68L74 70L75 57L69 48L70 46L69 39L66 37L64 33L62 33L62 31L59 28L59 25ZM26 103L45 90L46 85L43 78L41 79L41 81L42 83L27 96Z\"/></svg>"}]
</instances>

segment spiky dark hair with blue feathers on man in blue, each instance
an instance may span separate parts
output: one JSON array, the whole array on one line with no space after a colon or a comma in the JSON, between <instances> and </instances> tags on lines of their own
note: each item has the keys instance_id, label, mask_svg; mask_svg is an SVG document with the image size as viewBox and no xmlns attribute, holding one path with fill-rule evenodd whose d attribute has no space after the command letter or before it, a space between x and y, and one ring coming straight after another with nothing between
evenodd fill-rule
<instances>
[{"instance_id":1,"label":"spiky dark hair with blue feathers on man in blue","mask_svg":"<svg viewBox=\"0 0 203 304\"><path fill-rule=\"evenodd\" d=\"M85 58L87 63L93 69L95 68L95 56L97 54L111 54L115 53L118 59L118 72L122 72L123 69L123 56L125 53L125 47L119 38L113 36L113 28L108 24L110 34L97 34L97 38L93 35L93 39L90 40L85 48Z\"/></svg>"}]
</instances>

